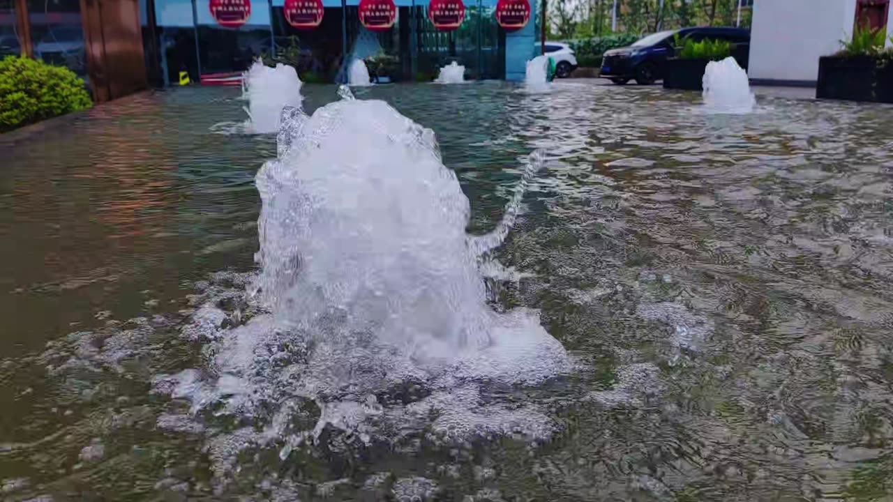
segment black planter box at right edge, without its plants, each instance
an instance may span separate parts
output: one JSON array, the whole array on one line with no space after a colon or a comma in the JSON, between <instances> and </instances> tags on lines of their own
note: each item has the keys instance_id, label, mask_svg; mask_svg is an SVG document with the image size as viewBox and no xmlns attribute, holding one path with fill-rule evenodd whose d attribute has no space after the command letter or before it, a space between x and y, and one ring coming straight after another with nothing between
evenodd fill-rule
<instances>
[{"instance_id":1,"label":"black planter box at right edge, without its plants","mask_svg":"<svg viewBox=\"0 0 893 502\"><path fill-rule=\"evenodd\" d=\"M815 97L893 103L893 62L871 56L820 57Z\"/></svg>"}]
</instances>

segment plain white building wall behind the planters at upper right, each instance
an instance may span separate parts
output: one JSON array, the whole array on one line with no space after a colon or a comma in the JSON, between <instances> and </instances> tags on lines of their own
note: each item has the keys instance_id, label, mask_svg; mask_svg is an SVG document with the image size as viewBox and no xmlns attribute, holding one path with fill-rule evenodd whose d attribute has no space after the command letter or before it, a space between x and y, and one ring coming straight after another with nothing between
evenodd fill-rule
<instances>
[{"instance_id":1,"label":"plain white building wall behind the planters at upper right","mask_svg":"<svg viewBox=\"0 0 893 502\"><path fill-rule=\"evenodd\" d=\"M819 57L853 36L855 0L755 0L753 15L750 78L815 81ZM893 8L888 16L889 34Z\"/></svg>"}]
</instances>

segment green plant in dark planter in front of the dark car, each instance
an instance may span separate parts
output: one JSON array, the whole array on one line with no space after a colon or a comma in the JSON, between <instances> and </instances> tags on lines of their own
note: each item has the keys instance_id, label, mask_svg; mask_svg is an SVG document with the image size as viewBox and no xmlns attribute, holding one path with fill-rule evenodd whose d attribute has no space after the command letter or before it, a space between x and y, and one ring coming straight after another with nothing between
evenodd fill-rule
<instances>
[{"instance_id":1,"label":"green plant in dark planter in front of the dark car","mask_svg":"<svg viewBox=\"0 0 893 502\"><path fill-rule=\"evenodd\" d=\"M705 38L700 42L685 40L680 46L677 36L677 56L666 61L663 70L663 88L702 90L707 63L722 61L731 54L731 45L725 40Z\"/></svg>"}]
</instances>

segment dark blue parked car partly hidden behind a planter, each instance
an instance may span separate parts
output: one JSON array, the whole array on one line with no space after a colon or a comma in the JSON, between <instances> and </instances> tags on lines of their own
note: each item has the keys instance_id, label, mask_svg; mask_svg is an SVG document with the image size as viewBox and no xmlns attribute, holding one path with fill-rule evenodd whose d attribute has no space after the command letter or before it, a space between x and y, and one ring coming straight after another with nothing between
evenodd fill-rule
<instances>
[{"instance_id":1,"label":"dark blue parked car partly hidden behind a planter","mask_svg":"<svg viewBox=\"0 0 893 502\"><path fill-rule=\"evenodd\" d=\"M750 31L738 28L683 28L660 31L638 40L629 47L605 51L602 57L602 77L615 84L625 84L630 79L642 85L653 84L663 79L663 63L675 54L673 39L676 35L682 40L700 42L705 38L728 40L731 55L741 68L747 70L750 53Z\"/></svg>"}]
</instances>

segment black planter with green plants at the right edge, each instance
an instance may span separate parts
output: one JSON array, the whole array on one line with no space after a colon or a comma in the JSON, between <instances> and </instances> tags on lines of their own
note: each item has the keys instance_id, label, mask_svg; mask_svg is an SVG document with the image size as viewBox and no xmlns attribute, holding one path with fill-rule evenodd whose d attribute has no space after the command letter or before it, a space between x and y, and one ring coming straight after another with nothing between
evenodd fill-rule
<instances>
[{"instance_id":1,"label":"black planter with green plants at the right edge","mask_svg":"<svg viewBox=\"0 0 893 502\"><path fill-rule=\"evenodd\" d=\"M819 58L815 97L893 103L893 51L883 29L856 29L837 54Z\"/></svg>"}]
</instances>

